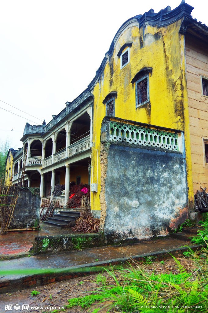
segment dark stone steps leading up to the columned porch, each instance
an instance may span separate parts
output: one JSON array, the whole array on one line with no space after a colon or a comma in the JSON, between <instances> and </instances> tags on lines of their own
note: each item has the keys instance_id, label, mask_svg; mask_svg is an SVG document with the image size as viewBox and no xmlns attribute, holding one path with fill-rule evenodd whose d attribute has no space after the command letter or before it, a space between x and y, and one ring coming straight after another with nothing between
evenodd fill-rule
<instances>
[{"instance_id":1,"label":"dark stone steps leading up to the columned porch","mask_svg":"<svg viewBox=\"0 0 208 313\"><path fill-rule=\"evenodd\" d=\"M49 217L44 223L53 224L58 227L72 227L74 226L73 222L79 217L79 210L59 211L59 214L54 214L53 217Z\"/></svg>"}]
</instances>

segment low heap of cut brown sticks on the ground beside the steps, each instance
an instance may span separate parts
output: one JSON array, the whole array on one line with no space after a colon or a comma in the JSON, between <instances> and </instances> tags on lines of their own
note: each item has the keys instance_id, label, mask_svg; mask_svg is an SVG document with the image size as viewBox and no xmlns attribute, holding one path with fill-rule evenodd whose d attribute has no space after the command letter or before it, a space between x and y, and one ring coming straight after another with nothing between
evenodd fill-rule
<instances>
[{"instance_id":1,"label":"low heap of cut brown sticks on the ground beside the steps","mask_svg":"<svg viewBox=\"0 0 208 313\"><path fill-rule=\"evenodd\" d=\"M76 225L71 229L77 232L84 232L84 233L98 233L100 220L99 218L79 218L76 222Z\"/></svg>"}]
</instances>

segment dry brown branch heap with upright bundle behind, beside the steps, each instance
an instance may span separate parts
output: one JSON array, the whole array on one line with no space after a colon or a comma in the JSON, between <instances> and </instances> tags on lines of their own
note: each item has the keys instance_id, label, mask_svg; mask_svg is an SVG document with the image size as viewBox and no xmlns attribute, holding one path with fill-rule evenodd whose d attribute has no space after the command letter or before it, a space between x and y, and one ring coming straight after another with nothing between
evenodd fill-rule
<instances>
[{"instance_id":1,"label":"dry brown branch heap with upright bundle behind, beside the steps","mask_svg":"<svg viewBox=\"0 0 208 313\"><path fill-rule=\"evenodd\" d=\"M94 218L94 214L91 212L89 198L82 196L80 218L75 221L76 225L72 227L72 230L84 233L98 233L100 220Z\"/></svg>"}]
</instances>

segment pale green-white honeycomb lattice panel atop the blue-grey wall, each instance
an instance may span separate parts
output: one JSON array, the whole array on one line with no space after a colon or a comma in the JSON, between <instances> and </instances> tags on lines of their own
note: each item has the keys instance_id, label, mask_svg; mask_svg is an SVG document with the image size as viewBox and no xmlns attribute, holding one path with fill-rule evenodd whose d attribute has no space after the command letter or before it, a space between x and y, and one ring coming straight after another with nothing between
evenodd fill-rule
<instances>
[{"instance_id":1,"label":"pale green-white honeycomb lattice panel atop the blue-grey wall","mask_svg":"<svg viewBox=\"0 0 208 313\"><path fill-rule=\"evenodd\" d=\"M111 141L179 151L178 134L110 121Z\"/></svg>"}]
</instances>

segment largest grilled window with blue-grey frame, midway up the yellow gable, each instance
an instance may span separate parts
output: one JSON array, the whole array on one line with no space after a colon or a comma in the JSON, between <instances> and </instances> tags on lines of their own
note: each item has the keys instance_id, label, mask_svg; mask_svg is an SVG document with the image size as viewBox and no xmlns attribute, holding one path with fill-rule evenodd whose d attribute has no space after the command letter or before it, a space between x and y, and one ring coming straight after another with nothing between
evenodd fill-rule
<instances>
[{"instance_id":1,"label":"largest grilled window with blue-grey frame, midway up the yellow gable","mask_svg":"<svg viewBox=\"0 0 208 313\"><path fill-rule=\"evenodd\" d=\"M150 101L149 96L149 75L137 80L135 83L136 108Z\"/></svg>"}]
</instances>

